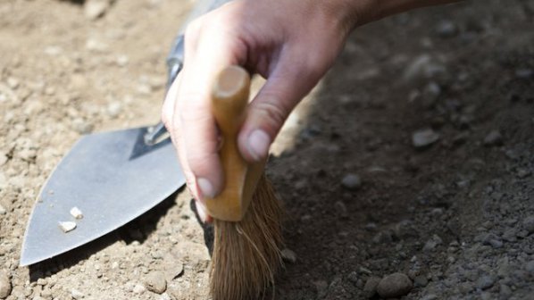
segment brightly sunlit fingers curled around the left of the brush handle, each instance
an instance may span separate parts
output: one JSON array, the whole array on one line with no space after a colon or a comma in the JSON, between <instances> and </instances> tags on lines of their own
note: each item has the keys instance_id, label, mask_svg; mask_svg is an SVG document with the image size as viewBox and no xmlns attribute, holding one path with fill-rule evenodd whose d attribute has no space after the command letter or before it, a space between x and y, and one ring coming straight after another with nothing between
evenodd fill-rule
<instances>
[{"instance_id":1,"label":"brightly sunlit fingers curled around the left of the brush handle","mask_svg":"<svg viewBox=\"0 0 534 300\"><path fill-rule=\"evenodd\" d=\"M200 201L197 208L201 218L203 213L208 217L204 198L218 195L224 183L218 129L210 107L213 80L224 67L246 55L239 39L229 37L231 24L227 21L226 30L221 32L220 24L213 19L217 20L204 16L188 27L184 68L163 104L163 120L178 149L188 187Z\"/></svg>"}]
</instances>

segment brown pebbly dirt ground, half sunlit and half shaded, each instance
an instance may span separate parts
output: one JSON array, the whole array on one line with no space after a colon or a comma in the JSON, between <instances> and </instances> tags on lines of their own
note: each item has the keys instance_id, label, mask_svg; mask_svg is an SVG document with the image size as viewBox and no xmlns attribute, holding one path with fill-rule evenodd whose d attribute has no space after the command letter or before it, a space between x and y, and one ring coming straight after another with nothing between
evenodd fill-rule
<instances>
[{"instance_id":1,"label":"brown pebbly dirt ground, half sunlit and half shaded","mask_svg":"<svg viewBox=\"0 0 534 300\"><path fill-rule=\"evenodd\" d=\"M92 20L82 1L0 2L0 298L208 298L185 190L18 265L39 188L76 139L159 120L164 58L192 4L117 0ZM403 299L532 299L532 24L532 1L487 0L355 31L273 148L296 260L272 298L380 298L373 282L403 273Z\"/></svg>"}]
</instances>

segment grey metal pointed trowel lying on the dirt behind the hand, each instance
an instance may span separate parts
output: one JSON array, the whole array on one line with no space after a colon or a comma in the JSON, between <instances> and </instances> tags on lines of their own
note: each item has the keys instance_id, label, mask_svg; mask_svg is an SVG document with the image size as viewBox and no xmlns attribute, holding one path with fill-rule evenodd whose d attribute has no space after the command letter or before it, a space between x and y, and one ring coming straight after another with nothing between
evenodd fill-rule
<instances>
[{"instance_id":1,"label":"grey metal pointed trowel lying on the dirt behind the hand","mask_svg":"<svg viewBox=\"0 0 534 300\"><path fill-rule=\"evenodd\" d=\"M229 0L200 0L188 21ZM184 62L179 34L168 82ZM171 196L186 180L163 123L89 134L72 146L41 188L29 217L21 266L41 262L120 228Z\"/></svg>"}]
</instances>

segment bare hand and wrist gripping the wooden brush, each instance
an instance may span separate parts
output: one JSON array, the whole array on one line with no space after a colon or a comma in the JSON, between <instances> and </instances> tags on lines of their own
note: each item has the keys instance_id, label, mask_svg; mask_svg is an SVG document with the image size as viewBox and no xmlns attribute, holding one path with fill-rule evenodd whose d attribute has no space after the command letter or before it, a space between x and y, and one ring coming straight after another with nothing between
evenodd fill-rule
<instances>
[{"instance_id":1,"label":"bare hand and wrist gripping the wooden brush","mask_svg":"<svg viewBox=\"0 0 534 300\"><path fill-rule=\"evenodd\" d=\"M163 104L188 188L203 221L204 196L224 185L220 137L210 110L213 80L238 64L267 79L238 135L248 162L265 158L289 113L330 69L364 23L447 0L234 0L188 25L185 64Z\"/></svg>"}]
</instances>

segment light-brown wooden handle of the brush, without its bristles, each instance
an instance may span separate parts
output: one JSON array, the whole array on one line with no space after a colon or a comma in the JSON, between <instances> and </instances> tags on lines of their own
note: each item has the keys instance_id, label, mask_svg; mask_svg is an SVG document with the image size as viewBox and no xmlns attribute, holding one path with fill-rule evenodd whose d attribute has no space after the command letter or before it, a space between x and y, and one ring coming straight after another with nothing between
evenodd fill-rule
<instances>
[{"instance_id":1,"label":"light-brown wooden handle of the brush, without its bristles","mask_svg":"<svg viewBox=\"0 0 534 300\"><path fill-rule=\"evenodd\" d=\"M245 121L250 76L238 66L221 71L212 90L212 111L221 130L219 151L224 171L224 188L219 196L207 198L213 218L241 221L263 173L264 162L248 164L238 149L238 132Z\"/></svg>"}]
</instances>

